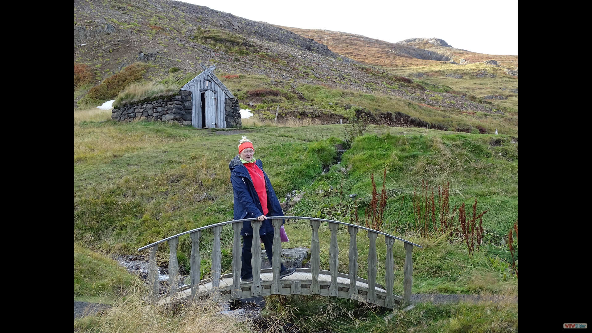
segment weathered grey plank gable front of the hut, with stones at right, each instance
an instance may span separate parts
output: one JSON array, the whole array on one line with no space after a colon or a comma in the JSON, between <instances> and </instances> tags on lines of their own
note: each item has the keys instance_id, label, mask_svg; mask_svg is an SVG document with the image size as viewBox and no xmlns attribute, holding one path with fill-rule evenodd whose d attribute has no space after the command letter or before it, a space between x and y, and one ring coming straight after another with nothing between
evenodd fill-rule
<instances>
[{"instance_id":1,"label":"weathered grey plank gable front of the hut, with stones at right","mask_svg":"<svg viewBox=\"0 0 592 333\"><path fill-rule=\"evenodd\" d=\"M215 66L205 68L181 90L191 91L193 114L191 124L198 129L240 127L239 100L214 75Z\"/></svg>"}]
</instances>

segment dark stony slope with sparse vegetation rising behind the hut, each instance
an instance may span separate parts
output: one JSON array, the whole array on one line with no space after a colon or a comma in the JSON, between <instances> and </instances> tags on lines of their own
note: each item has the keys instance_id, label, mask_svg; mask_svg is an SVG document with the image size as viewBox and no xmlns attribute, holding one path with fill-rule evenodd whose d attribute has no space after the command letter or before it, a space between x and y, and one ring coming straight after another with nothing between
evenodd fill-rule
<instances>
[{"instance_id":1,"label":"dark stony slope with sparse vegetation rising behind the hut","mask_svg":"<svg viewBox=\"0 0 592 333\"><path fill-rule=\"evenodd\" d=\"M424 76L377 70L291 31L181 2L75 2L74 29L74 100L81 108L113 99L138 82L179 88L205 63L215 64L218 77L226 76L223 82L261 119L275 118L281 104L280 121L305 116L336 123L352 116L340 106L347 103L373 114L402 112L439 129L471 132L480 126L481 133L517 134L517 94L497 90L516 88L516 79L490 65L483 66L498 73L497 79L468 79L481 69L466 66L430 67L422 69ZM435 64L442 65L424 65ZM459 70L466 78L446 78ZM256 93L261 88L278 93ZM484 94L508 99L484 100ZM375 123L394 124L381 117Z\"/></svg>"}]
</instances>

